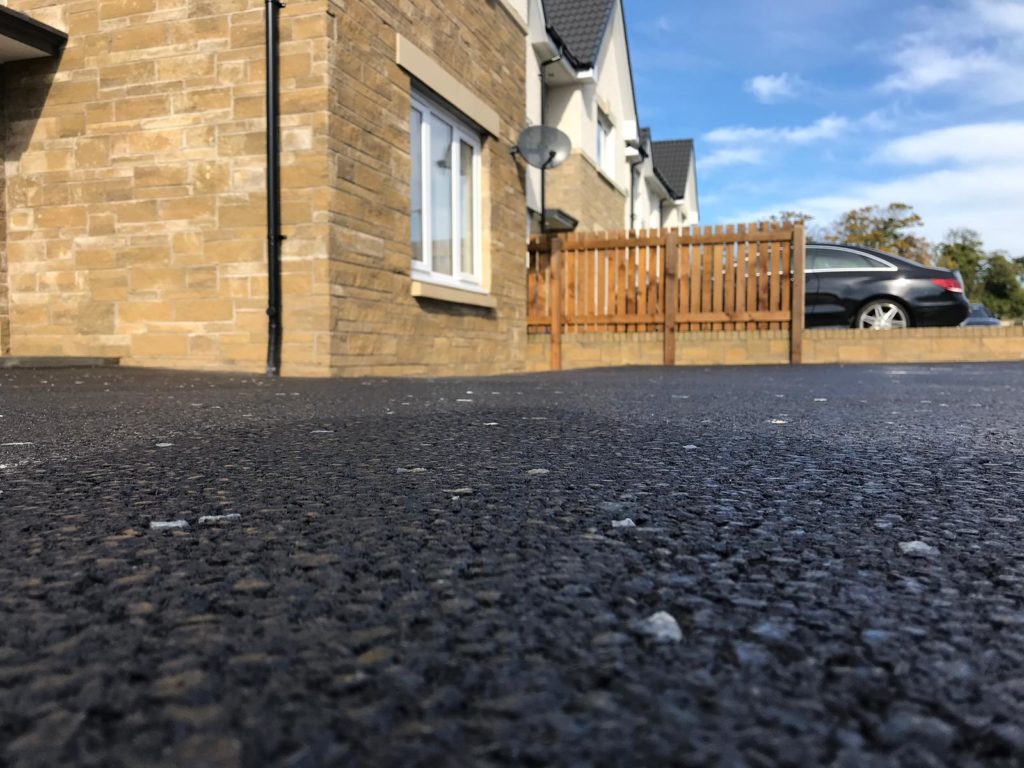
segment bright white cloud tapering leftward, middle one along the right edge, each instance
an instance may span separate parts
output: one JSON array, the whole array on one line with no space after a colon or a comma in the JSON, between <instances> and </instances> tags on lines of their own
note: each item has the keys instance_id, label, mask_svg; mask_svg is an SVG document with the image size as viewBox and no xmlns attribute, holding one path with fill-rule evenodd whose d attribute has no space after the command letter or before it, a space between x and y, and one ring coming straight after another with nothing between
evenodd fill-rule
<instances>
[{"instance_id":1,"label":"bright white cloud tapering leftward, middle one along the right edge","mask_svg":"<svg viewBox=\"0 0 1024 768\"><path fill-rule=\"evenodd\" d=\"M907 165L1024 164L1024 122L957 125L904 136L883 146L876 159Z\"/></svg>"}]
</instances>

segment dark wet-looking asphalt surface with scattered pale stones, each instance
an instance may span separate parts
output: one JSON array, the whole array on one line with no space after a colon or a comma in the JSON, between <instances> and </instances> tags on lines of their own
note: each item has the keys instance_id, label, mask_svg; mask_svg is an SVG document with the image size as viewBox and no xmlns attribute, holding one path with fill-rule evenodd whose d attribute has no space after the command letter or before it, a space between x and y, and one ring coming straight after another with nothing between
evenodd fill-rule
<instances>
[{"instance_id":1,"label":"dark wet-looking asphalt surface with scattered pale stones","mask_svg":"<svg viewBox=\"0 0 1024 768\"><path fill-rule=\"evenodd\" d=\"M1022 422L1019 365L0 372L0 764L1022 765Z\"/></svg>"}]
</instances>

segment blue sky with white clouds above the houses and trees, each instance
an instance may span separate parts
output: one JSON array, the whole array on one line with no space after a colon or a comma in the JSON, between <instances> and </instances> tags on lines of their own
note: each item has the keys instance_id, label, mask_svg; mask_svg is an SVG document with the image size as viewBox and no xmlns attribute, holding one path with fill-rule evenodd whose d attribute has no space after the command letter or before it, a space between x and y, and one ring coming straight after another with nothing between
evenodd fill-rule
<instances>
[{"instance_id":1,"label":"blue sky with white clouds above the houses and trees","mask_svg":"<svg viewBox=\"0 0 1024 768\"><path fill-rule=\"evenodd\" d=\"M1024 255L1024 0L625 0L637 108L702 223L907 203Z\"/></svg>"}]
</instances>

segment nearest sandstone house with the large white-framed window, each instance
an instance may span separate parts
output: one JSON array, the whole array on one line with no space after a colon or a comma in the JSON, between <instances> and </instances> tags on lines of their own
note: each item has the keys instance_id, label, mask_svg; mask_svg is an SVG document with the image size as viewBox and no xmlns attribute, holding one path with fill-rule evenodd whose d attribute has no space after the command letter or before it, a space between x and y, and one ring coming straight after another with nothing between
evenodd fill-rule
<instances>
[{"instance_id":1,"label":"nearest sandstone house with the large white-framed window","mask_svg":"<svg viewBox=\"0 0 1024 768\"><path fill-rule=\"evenodd\" d=\"M283 373L523 369L526 3L280 11ZM0 4L0 354L263 370L263 0Z\"/></svg>"}]
</instances>

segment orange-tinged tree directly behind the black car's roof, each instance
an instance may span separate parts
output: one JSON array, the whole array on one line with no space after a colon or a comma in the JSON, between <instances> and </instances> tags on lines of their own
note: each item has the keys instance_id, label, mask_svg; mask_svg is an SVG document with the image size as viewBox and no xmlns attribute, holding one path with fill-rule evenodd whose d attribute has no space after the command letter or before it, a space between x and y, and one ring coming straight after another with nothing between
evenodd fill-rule
<instances>
[{"instance_id":1,"label":"orange-tinged tree directly behind the black car's roof","mask_svg":"<svg viewBox=\"0 0 1024 768\"><path fill-rule=\"evenodd\" d=\"M923 224L921 216L913 212L911 206L890 203L885 208L865 206L847 211L823 234L830 243L865 246L922 264L931 264L932 253L928 241L905 231Z\"/></svg>"}]
</instances>

